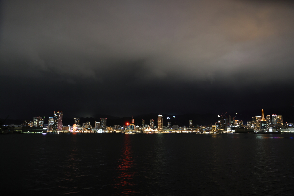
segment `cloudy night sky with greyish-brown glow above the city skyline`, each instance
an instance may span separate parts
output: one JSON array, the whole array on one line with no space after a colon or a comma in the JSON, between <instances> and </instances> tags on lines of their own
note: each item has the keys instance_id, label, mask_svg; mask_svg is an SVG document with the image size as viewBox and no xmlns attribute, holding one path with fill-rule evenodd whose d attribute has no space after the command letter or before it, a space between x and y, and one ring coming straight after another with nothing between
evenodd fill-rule
<instances>
[{"instance_id":1,"label":"cloudy night sky with greyish-brown glow above the city skyline","mask_svg":"<svg viewBox=\"0 0 294 196\"><path fill-rule=\"evenodd\" d=\"M292 1L0 6L0 118L254 116L294 104Z\"/></svg>"}]
</instances>

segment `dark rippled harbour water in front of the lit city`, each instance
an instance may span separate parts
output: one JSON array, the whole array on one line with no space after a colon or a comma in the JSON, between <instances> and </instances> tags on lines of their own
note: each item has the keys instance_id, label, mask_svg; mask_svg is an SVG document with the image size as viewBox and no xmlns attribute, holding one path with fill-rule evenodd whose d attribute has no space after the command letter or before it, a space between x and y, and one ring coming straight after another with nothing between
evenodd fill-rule
<instances>
[{"instance_id":1,"label":"dark rippled harbour water in front of the lit city","mask_svg":"<svg viewBox=\"0 0 294 196\"><path fill-rule=\"evenodd\" d=\"M294 195L293 137L0 135L0 194Z\"/></svg>"}]
</instances>

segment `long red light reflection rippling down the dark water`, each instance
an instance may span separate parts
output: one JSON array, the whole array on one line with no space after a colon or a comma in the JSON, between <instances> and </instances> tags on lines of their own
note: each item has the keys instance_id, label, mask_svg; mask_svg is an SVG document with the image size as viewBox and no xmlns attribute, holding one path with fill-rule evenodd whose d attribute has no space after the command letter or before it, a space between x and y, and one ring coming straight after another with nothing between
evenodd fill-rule
<instances>
[{"instance_id":1,"label":"long red light reflection rippling down the dark water","mask_svg":"<svg viewBox=\"0 0 294 196\"><path fill-rule=\"evenodd\" d=\"M116 187L123 195L134 195L137 191L135 174L133 171L133 154L131 148L130 135L125 134L124 145L121 152L121 158L118 160L118 166L116 167L116 173L118 176L115 179Z\"/></svg>"}]
</instances>

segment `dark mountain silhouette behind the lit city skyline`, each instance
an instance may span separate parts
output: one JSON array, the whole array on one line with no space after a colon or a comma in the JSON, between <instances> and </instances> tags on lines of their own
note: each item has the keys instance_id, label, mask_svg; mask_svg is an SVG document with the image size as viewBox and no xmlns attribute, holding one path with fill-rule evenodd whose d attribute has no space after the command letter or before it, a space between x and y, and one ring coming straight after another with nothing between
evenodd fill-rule
<instances>
[{"instance_id":1,"label":"dark mountain silhouette behind the lit city skyline","mask_svg":"<svg viewBox=\"0 0 294 196\"><path fill-rule=\"evenodd\" d=\"M290 122L294 123L294 107L292 105L285 105L284 107L276 107L276 108L263 108L265 111L265 115L267 114L279 114L283 115L283 122ZM181 114L181 115L175 115L175 118L173 118L173 115L169 114L163 114L163 125L167 125L168 122L171 122L171 125L179 125L179 126L188 126L189 125L189 120L193 120L193 125L210 125L218 121L220 117L218 117L217 114L211 114L211 113L206 113L206 114ZM226 116L229 114L227 113ZM244 124L247 123L247 121L251 120L253 116L256 115L261 115L261 108L256 108L256 110L244 110L241 111L240 113L233 113L230 114L231 117L235 116L236 120L243 120ZM149 113L149 114L140 114L140 115L135 115L133 118L135 119L135 125L141 126L142 124L142 119L145 120L146 125L150 125L150 120L154 120L154 124L157 124L157 117L158 113ZM169 117L170 119L167 119ZM82 125L83 123L86 123L87 121L90 122L90 124L94 127L95 121L100 122L100 118L107 118L106 124L108 126L113 126L113 125L126 125L126 123L131 123L131 116L128 117L117 117L117 116L111 116L111 115L106 115L106 114L95 114L93 117L78 117L75 116L75 118L80 118L80 124ZM3 120L0 118L0 120ZM7 119L4 123L4 125L10 125L10 124L16 124L16 125L21 125L24 120L33 120L31 119ZM66 113L64 113L63 116L63 125L73 125L74 124L74 118L67 118ZM45 117L45 124L48 123L48 117Z\"/></svg>"}]
</instances>

